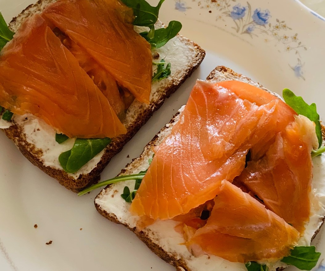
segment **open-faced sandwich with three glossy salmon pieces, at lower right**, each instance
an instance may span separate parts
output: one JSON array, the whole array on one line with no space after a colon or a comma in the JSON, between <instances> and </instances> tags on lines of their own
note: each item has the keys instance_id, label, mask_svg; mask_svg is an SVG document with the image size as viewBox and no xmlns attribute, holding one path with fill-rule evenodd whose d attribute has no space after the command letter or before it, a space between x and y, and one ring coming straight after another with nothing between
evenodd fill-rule
<instances>
[{"instance_id":1,"label":"open-faced sandwich with three glossy salmon pieces, at lower right","mask_svg":"<svg viewBox=\"0 0 325 271\"><path fill-rule=\"evenodd\" d=\"M321 127L315 104L283 97L217 67L106 182L98 212L178 270L310 270L325 215Z\"/></svg>"}]
</instances>

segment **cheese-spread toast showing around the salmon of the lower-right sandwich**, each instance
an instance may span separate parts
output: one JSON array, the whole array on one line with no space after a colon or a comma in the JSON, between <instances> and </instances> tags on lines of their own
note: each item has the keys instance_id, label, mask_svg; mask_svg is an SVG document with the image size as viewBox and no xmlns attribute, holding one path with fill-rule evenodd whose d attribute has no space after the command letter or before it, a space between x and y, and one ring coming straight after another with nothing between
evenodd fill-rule
<instances>
[{"instance_id":1,"label":"cheese-spread toast showing around the salmon of the lower-right sandwich","mask_svg":"<svg viewBox=\"0 0 325 271\"><path fill-rule=\"evenodd\" d=\"M235 73L234 71L219 66L212 71L207 80L212 82L221 82L227 80L239 80L245 83L255 85L261 89L268 91L262 85L253 82L251 79ZM272 93L272 92L271 92ZM274 93L273 93L274 94ZM278 96L277 94L274 94ZM149 167L149 158L152 158L152 147L159 145L164 137L168 135L175 123L179 120L179 113L182 112L184 106L173 117L170 123L149 142L144 148L140 157L129 163L120 173L120 175L137 174L140 171L146 170ZM321 185L322 176L318 174L318 168L325 165L325 158L317 157L318 161L314 165L314 180L311 200L310 221L306 225L305 234L300 238L298 245L309 245L311 240L318 233L320 226L324 222L325 199L321 197L325 193L325 187ZM128 210L130 203L122 199L123 189L125 186L132 191L135 181L126 181L104 188L95 198L95 206L98 212L110 221L122 224L133 231L139 239L141 239L154 253L161 257L164 261L174 265L177 270L187 271L205 271L205 270L245 270L244 264L232 263L220 257L213 255L202 255L194 257L188 252L185 246L185 240L182 235L177 233L174 227L177 225L173 220L156 221L146 228L138 228L138 217L131 215ZM131 189L132 188L132 189ZM322 200L319 202L318 200ZM206 269L208 267L208 269ZM270 270L282 270L286 265L277 263Z\"/></svg>"}]
</instances>

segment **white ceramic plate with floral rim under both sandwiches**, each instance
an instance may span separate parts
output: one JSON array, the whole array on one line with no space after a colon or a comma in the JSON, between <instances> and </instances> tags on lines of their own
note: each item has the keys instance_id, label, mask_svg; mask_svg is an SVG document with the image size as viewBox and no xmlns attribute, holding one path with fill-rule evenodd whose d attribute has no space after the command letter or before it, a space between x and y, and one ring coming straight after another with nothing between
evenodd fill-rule
<instances>
[{"instance_id":1,"label":"white ceramic plate with floral rim under both sandwiches","mask_svg":"<svg viewBox=\"0 0 325 271\"><path fill-rule=\"evenodd\" d=\"M0 0L0 7L8 22L32 2ZM169 0L160 19L181 21L181 34L204 48L206 57L112 159L102 180L137 157L186 103L195 80L204 79L217 65L278 93L288 87L308 103L316 102L325 116L325 21L298 1ZM27 161L2 133L0 143L0 270L174 270L128 229L97 213L93 200L99 190L78 198ZM325 269L323 232L314 241L323 252L316 269ZM49 240L53 243L46 245Z\"/></svg>"}]
</instances>

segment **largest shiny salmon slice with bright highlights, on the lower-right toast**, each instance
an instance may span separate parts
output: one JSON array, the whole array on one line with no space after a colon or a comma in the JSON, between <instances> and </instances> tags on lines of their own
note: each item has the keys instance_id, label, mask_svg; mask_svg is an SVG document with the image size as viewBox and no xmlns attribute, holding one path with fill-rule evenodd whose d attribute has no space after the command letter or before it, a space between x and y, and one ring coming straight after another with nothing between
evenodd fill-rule
<instances>
[{"instance_id":1,"label":"largest shiny salmon slice with bright highlights, on the lower-right toast","mask_svg":"<svg viewBox=\"0 0 325 271\"><path fill-rule=\"evenodd\" d=\"M294 120L284 102L245 85L256 101L242 93L241 82L197 82L180 120L154 148L132 213L170 219L214 199L222 180L232 182L243 171L249 149Z\"/></svg>"}]
</instances>

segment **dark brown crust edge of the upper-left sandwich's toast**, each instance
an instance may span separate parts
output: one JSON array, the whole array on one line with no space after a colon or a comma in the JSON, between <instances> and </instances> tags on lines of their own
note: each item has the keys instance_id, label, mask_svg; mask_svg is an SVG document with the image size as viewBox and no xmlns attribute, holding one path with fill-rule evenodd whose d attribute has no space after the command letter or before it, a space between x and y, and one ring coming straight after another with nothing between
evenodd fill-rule
<instances>
[{"instance_id":1,"label":"dark brown crust edge of the upper-left sandwich's toast","mask_svg":"<svg viewBox=\"0 0 325 271\"><path fill-rule=\"evenodd\" d=\"M56 0L39 0L35 4L28 6L17 17L12 19L9 24L9 28L12 31L17 31L20 24L25 19L31 17L35 13L41 13L46 6L54 2L56 2ZM128 142L142 127L142 125L144 125L149 120L153 112L162 106L164 100L170 97L170 95L173 94L201 64L205 56L205 51L199 45L182 37L181 35L178 35L178 38L182 41L182 43L193 48L193 51L196 52L195 56L188 63L187 67L184 67L184 71L175 82L166 81L167 83L164 89L159 90L158 98L152 99L149 106L143 106L140 103L136 103L136 105L139 104L138 108L134 109L133 107L132 112L127 112L128 119L126 120L126 123L124 123L127 128L127 133L112 139L112 143L105 149L104 154L102 155L97 166L88 174L81 174L77 179L75 179L74 177L67 174L64 170L45 166L41 160L43 153L42 150L37 149L27 141L26 135L22 133L22 127L20 127L18 124L5 129L4 131L6 136L15 142L21 153L29 161L31 161L32 164L39 167L46 174L57 179L59 183L64 187L72 190L73 192L79 192L84 188L92 185L98 181L100 178L100 173L110 162L111 158L122 150L126 142Z\"/></svg>"}]
</instances>

